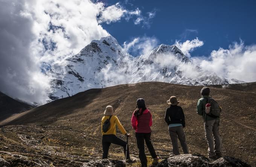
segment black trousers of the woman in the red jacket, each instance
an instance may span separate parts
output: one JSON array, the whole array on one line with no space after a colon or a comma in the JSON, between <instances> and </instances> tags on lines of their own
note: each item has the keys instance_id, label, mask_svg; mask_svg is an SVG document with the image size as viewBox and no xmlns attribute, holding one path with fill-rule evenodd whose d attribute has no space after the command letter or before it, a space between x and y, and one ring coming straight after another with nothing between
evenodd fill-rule
<instances>
[{"instance_id":1,"label":"black trousers of the woman in the red jacket","mask_svg":"<svg viewBox=\"0 0 256 167\"><path fill-rule=\"evenodd\" d=\"M150 136L151 136L151 133L136 133L137 147L139 149L139 158L140 158L140 163L142 167L147 167L147 163L148 163L148 160L145 154L144 140L152 158L157 157L157 155L155 154L155 149L151 143Z\"/></svg>"}]
</instances>

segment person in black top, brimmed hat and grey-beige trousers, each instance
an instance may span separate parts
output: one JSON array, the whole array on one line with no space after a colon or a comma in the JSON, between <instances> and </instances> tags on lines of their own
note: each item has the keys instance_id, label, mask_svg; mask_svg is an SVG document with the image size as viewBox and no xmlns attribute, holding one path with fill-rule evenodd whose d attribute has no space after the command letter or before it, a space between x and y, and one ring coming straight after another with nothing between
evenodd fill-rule
<instances>
[{"instance_id":1,"label":"person in black top, brimmed hat and grey-beige trousers","mask_svg":"<svg viewBox=\"0 0 256 167\"><path fill-rule=\"evenodd\" d=\"M180 155L179 147L178 147L178 139L180 140L180 144L183 150L183 153L189 153L186 143L186 136L183 131L185 127L185 116L182 108L178 106L180 103L175 96L171 96L171 98L167 101L170 107L166 108L165 112L165 122L169 126L169 134L172 141L172 152L174 155Z\"/></svg>"}]
</instances>

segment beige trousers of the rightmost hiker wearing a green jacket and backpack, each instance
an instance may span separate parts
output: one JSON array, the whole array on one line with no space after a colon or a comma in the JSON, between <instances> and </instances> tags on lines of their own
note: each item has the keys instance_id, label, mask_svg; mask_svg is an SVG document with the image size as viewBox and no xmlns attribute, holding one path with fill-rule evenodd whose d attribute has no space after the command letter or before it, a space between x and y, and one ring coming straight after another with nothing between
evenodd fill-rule
<instances>
[{"instance_id":1,"label":"beige trousers of the rightmost hiker wearing a green jacket and backpack","mask_svg":"<svg viewBox=\"0 0 256 167\"><path fill-rule=\"evenodd\" d=\"M204 132L208 143L208 156L222 154L221 137L219 135L219 119L204 122Z\"/></svg>"}]
</instances>

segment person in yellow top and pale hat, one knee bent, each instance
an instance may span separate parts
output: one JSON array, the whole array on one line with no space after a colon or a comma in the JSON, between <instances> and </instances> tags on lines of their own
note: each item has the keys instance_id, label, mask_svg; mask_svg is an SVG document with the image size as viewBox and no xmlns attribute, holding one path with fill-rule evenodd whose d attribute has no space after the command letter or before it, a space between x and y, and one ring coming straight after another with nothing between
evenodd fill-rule
<instances>
[{"instance_id":1,"label":"person in yellow top and pale hat, one knee bent","mask_svg":"<svg viewBox=\"0 0 256 167\"><path fill-rule=\"evenodd\" d=\"M109 118L110 118L110 126L108 128L108 131L104 132L102 129L103 123ZM108 158L108 149L111 143L122 146L123 151L126 154L126 141L123 141L121 138L116 136L116 125L120 129L122 134L128 137L131 136L130 134L127 134L122 124L119 122L119 119L117 118L117 116L114 115L113 107L111 105L108 105L106 107L106 110L104 111L104 117L102 117L102 120L101 120L102 149L103 149L102 159ZM129 147L127 147L127 156L125 157L126 157L126 162L132 162L132 160L130 159Z\"/></svg>"}]
</instances>

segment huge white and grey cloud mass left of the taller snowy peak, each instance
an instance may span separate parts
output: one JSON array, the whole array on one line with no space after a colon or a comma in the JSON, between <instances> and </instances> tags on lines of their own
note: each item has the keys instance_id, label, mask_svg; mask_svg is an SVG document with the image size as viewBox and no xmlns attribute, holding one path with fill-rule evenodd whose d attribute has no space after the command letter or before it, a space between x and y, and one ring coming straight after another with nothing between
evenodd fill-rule
<instances>
[{"instance_id":1,"label":"huge white and grey cloud mass left of the taller snowy peak","mask_svg":"<svg viewBox=\"0 0 256 167\"><path fill-rule=\"evenodd\" d=\"M52 77L44 73L51 65L64 64L92 40L109 35L99 23L140 13L90 0L1 1L0 91L44 103Z\"/></svg>"}]
</instances>

